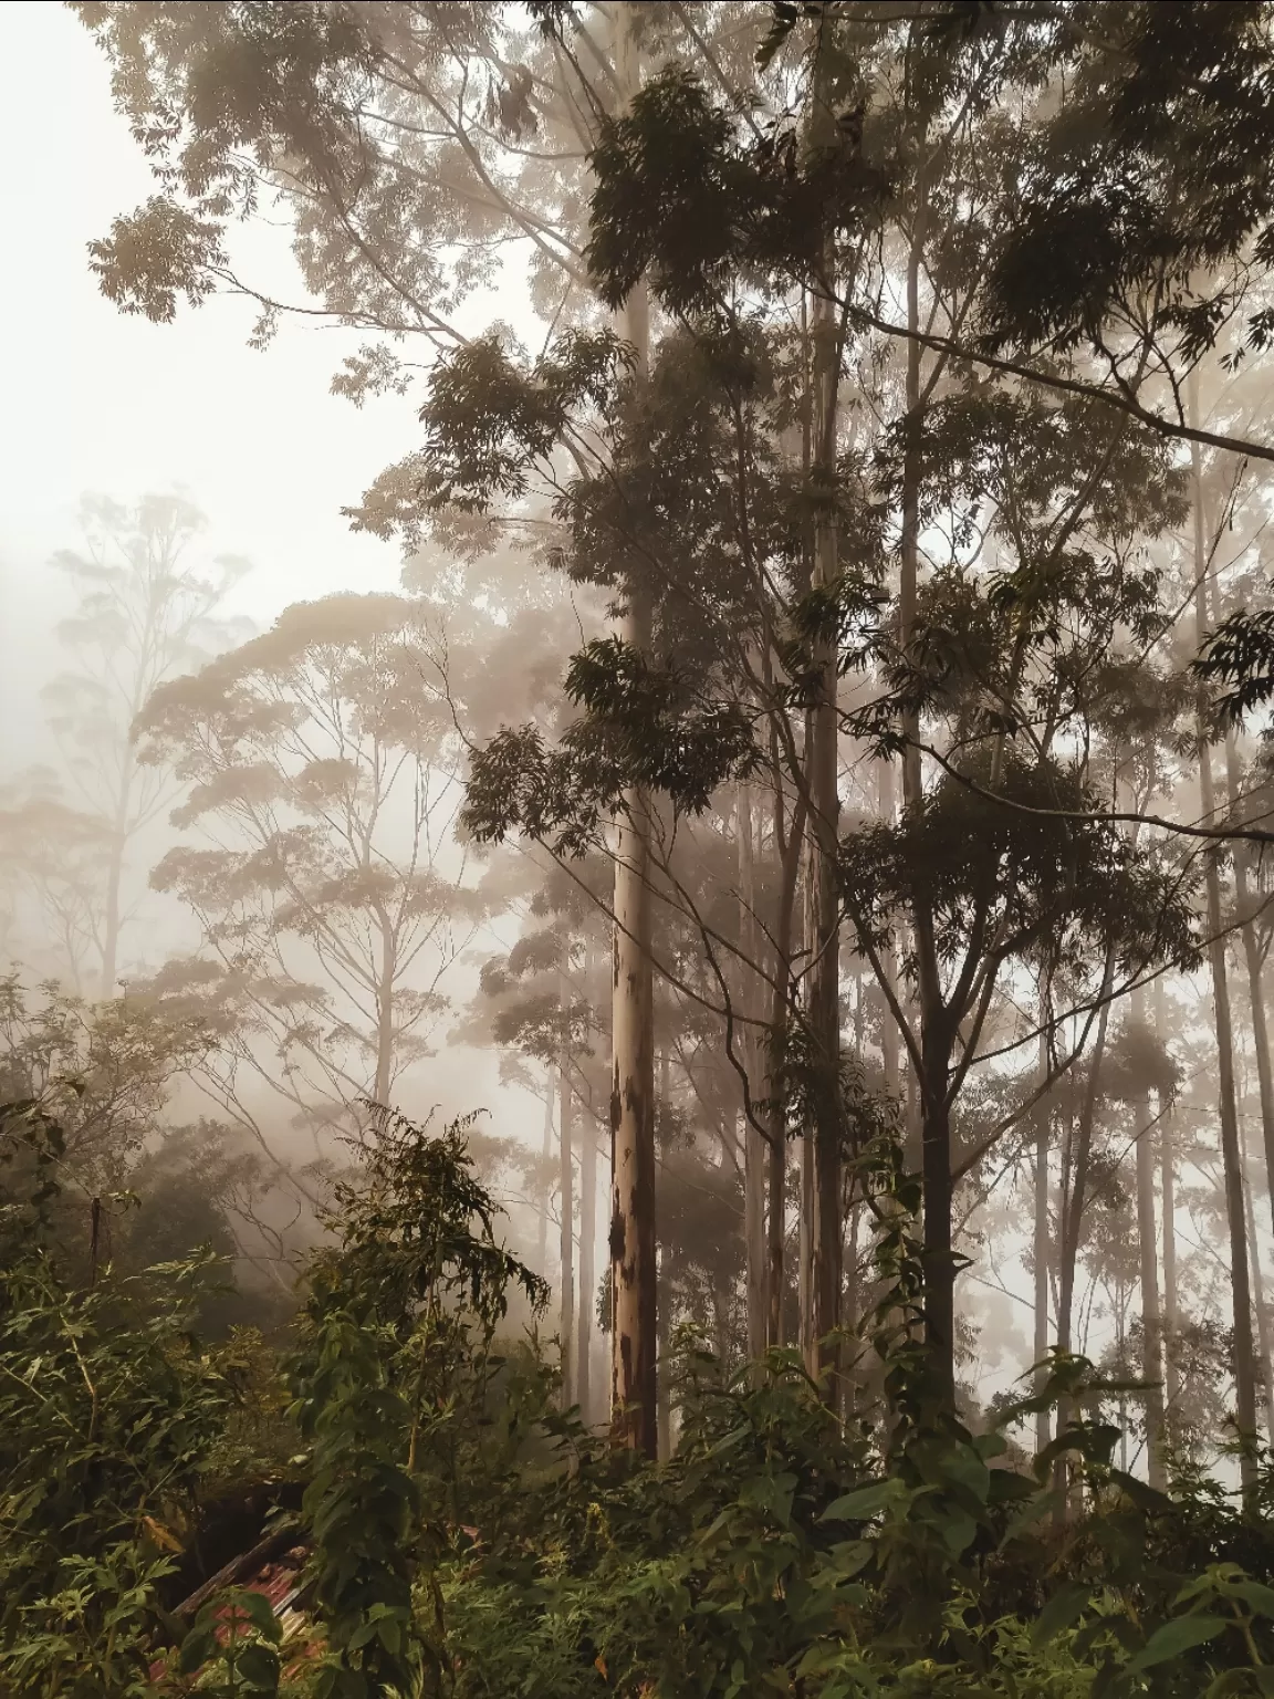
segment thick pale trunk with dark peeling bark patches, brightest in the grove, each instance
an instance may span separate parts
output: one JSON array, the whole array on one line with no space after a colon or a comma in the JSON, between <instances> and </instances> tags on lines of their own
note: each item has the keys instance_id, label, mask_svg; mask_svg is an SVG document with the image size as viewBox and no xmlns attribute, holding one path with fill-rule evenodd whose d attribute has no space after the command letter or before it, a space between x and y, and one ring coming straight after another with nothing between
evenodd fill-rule
<instances>
[{"instance_id":1,"label":"thick pale trunk with dark peeling bark patches, brightest in the grove","mask_svg":"<svg viewBox=\"0 0 1274 1699\"><path fill-rule=\"evenodd\" d=\"M617 15L615 73L627 102L640 85L634 39L635 8ZM622 333L635 350L634 382L644 384L651 362L651 308L645 282L629 296ZM634 562L625 586L620 634L651 651L652 608L642 567ZM654 985L651 975L651 797L629 788L617 822L615 974L612 992L612 1359L610 1408L615 1442L654 1458L657 1267L654 1225Z\"/></svg>"}]
</instances>

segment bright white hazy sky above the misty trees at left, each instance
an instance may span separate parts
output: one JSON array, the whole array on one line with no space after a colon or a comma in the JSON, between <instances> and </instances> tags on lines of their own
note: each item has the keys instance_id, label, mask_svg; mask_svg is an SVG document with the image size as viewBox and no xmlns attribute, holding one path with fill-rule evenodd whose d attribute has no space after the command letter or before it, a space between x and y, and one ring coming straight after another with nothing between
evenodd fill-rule
<instances>
[{"instance_id":1,"label":"bright white hazy sky above the misty trees at left","mask_svg":"<svg viewBox=\"0 0 1274 1699\"><path fill-rule=\"evenodd\" d=\"M36 691L59 608L49 554L75 542L83 491L127 501L183 488L211 520L214 552L256 571L240 607L268 622L285 603L343 588L392 588L397 550L340 515L418 426L406 401L358 413L328 392L353 333L285 326L245 347L246 301L211 301L173 325L124 318L97 291L85 245L151 194L110 104L109 70L54 0L0 7L0 158L7 263L3 357L3 766L25 765ZM256 274L287 275L285 236L253 233ZM27 724L24 724L27 722ZM10 742L10 739L20 739Z\"/></svg>"}]
</instances>

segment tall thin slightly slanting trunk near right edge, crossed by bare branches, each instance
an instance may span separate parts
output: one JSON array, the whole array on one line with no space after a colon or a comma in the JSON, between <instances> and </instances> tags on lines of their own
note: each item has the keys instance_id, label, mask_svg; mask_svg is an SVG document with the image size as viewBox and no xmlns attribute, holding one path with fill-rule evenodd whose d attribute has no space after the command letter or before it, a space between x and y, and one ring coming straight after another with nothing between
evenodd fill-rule
<instances>
[{"instance_id":1,"label":"tall thin slightly slanting trunk near right edge, crossed by bare branches","mask_svg":"<svg viewBox=\"0 0 1274 1699\"><path fill-rule=\"evenodd\" d=\"M1191 403L1198 411L1198 381ZM1208 601L1204 579L1208 573L1206 522L1203 511L1203 476L1199 445L1191 443L1191 472L1194 481L1194 618L1196 646L1203 644L1208 627ZM1211 746L1206 741L1206 702L1199 695L1199 804L1204 824L1216 819L1216 793L1213 787ZM1252 1286L1247 1259L1247 1216L1243 1210L1243 1167L1238 1150L1238 1101L1235 1094L1235 1043L1230 1019L1230 980L1221 934L1221 875L1216 856L1204 856L1204 882L1208 892L1208 962L1213 979L1213 1008L1216 1016L1216 1072L1221 1111L1221 1167L1225 1172L1225 1216L1230 1228L1230 1291L1235 1324L1235 1405L1242 1441L1240 1476L1243 1495L1255 1490L1257 1465L1252 1442L1257 1429L1255 1352L1252 1346Z\"/></svg>"}]
</instances>

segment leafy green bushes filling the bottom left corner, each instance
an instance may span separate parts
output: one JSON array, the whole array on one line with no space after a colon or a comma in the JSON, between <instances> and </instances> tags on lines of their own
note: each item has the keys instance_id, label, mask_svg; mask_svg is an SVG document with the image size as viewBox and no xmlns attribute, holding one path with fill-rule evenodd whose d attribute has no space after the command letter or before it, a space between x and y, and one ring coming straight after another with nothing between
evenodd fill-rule
<instances>
[{"instance_id":1,"label":"leafy green bushes filling the bottom left corner","mask_svg":"<svg viewBox=\"0 0 1274 1699\"><path fill-rule=\"evenodd\" d=\"M189 1327L211 1259L66 1279L49 1249L59 1138L22 1104L0 1128L34 1145L5 1196L0 1256L0 1672L5 1692L149 1692L199 1475L233 1390Z\"/></svg>"}]
</instances>

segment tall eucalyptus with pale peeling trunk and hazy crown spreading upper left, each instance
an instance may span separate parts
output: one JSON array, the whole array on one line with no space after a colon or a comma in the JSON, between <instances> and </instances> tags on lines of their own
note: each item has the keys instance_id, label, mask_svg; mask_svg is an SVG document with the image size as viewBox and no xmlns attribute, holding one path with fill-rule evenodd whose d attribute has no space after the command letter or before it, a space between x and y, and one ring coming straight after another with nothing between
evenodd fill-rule
<instances>
[{"instance_id":1,"label":"tall eucalyptus with pale peeling trunk and hazy crown spreading upper left","mask_svg":"<svg viewBox=\"0 0 1274 1699\"><path fill-rule=\"evenodd\" d=\"M216 12L88 0L75 10L112 65L117 104L158 178L156 194L93 245L107 296L163 321L182 301L241 291L258 301L256 336L268 340L289 302L240 277L229 228L280 197L319 311L369 336L336 375L353 399L408 387L438 350L464 348L457 309L493 280L510 245L545 321L596 321L583 248L586 155L601 126L635 87L642 56L673 44L722 80L741 58L737 44L713 48L712 20L695 8L620 0L581 8L233 3ZM763 22L746 17L744 36ZM644 296L639 285L629 296L623 331L640 353ZM314 311L309 299L297 304ZM418 510L411 486L408 459L381 481L372 506L384 516L392 491L406 491L399 511L409 518ZM640 647L640 596L627 596L617 617ZM632 800L615 844L625 968L615 991L613 1109L617 1149L632 1152L634 1167L618 1194L625 1220L639 1194L625 1240L637 1261L615 1284L617 1301L632 1308L625 1329L635 1329L637 1378L620 1366L617 1408L651 1405L654 1363L645 809ZM625 1427L625 1436L649 1449L652 1417L640 1420L642 1432Z\"/></svg>"}]
</instances>

